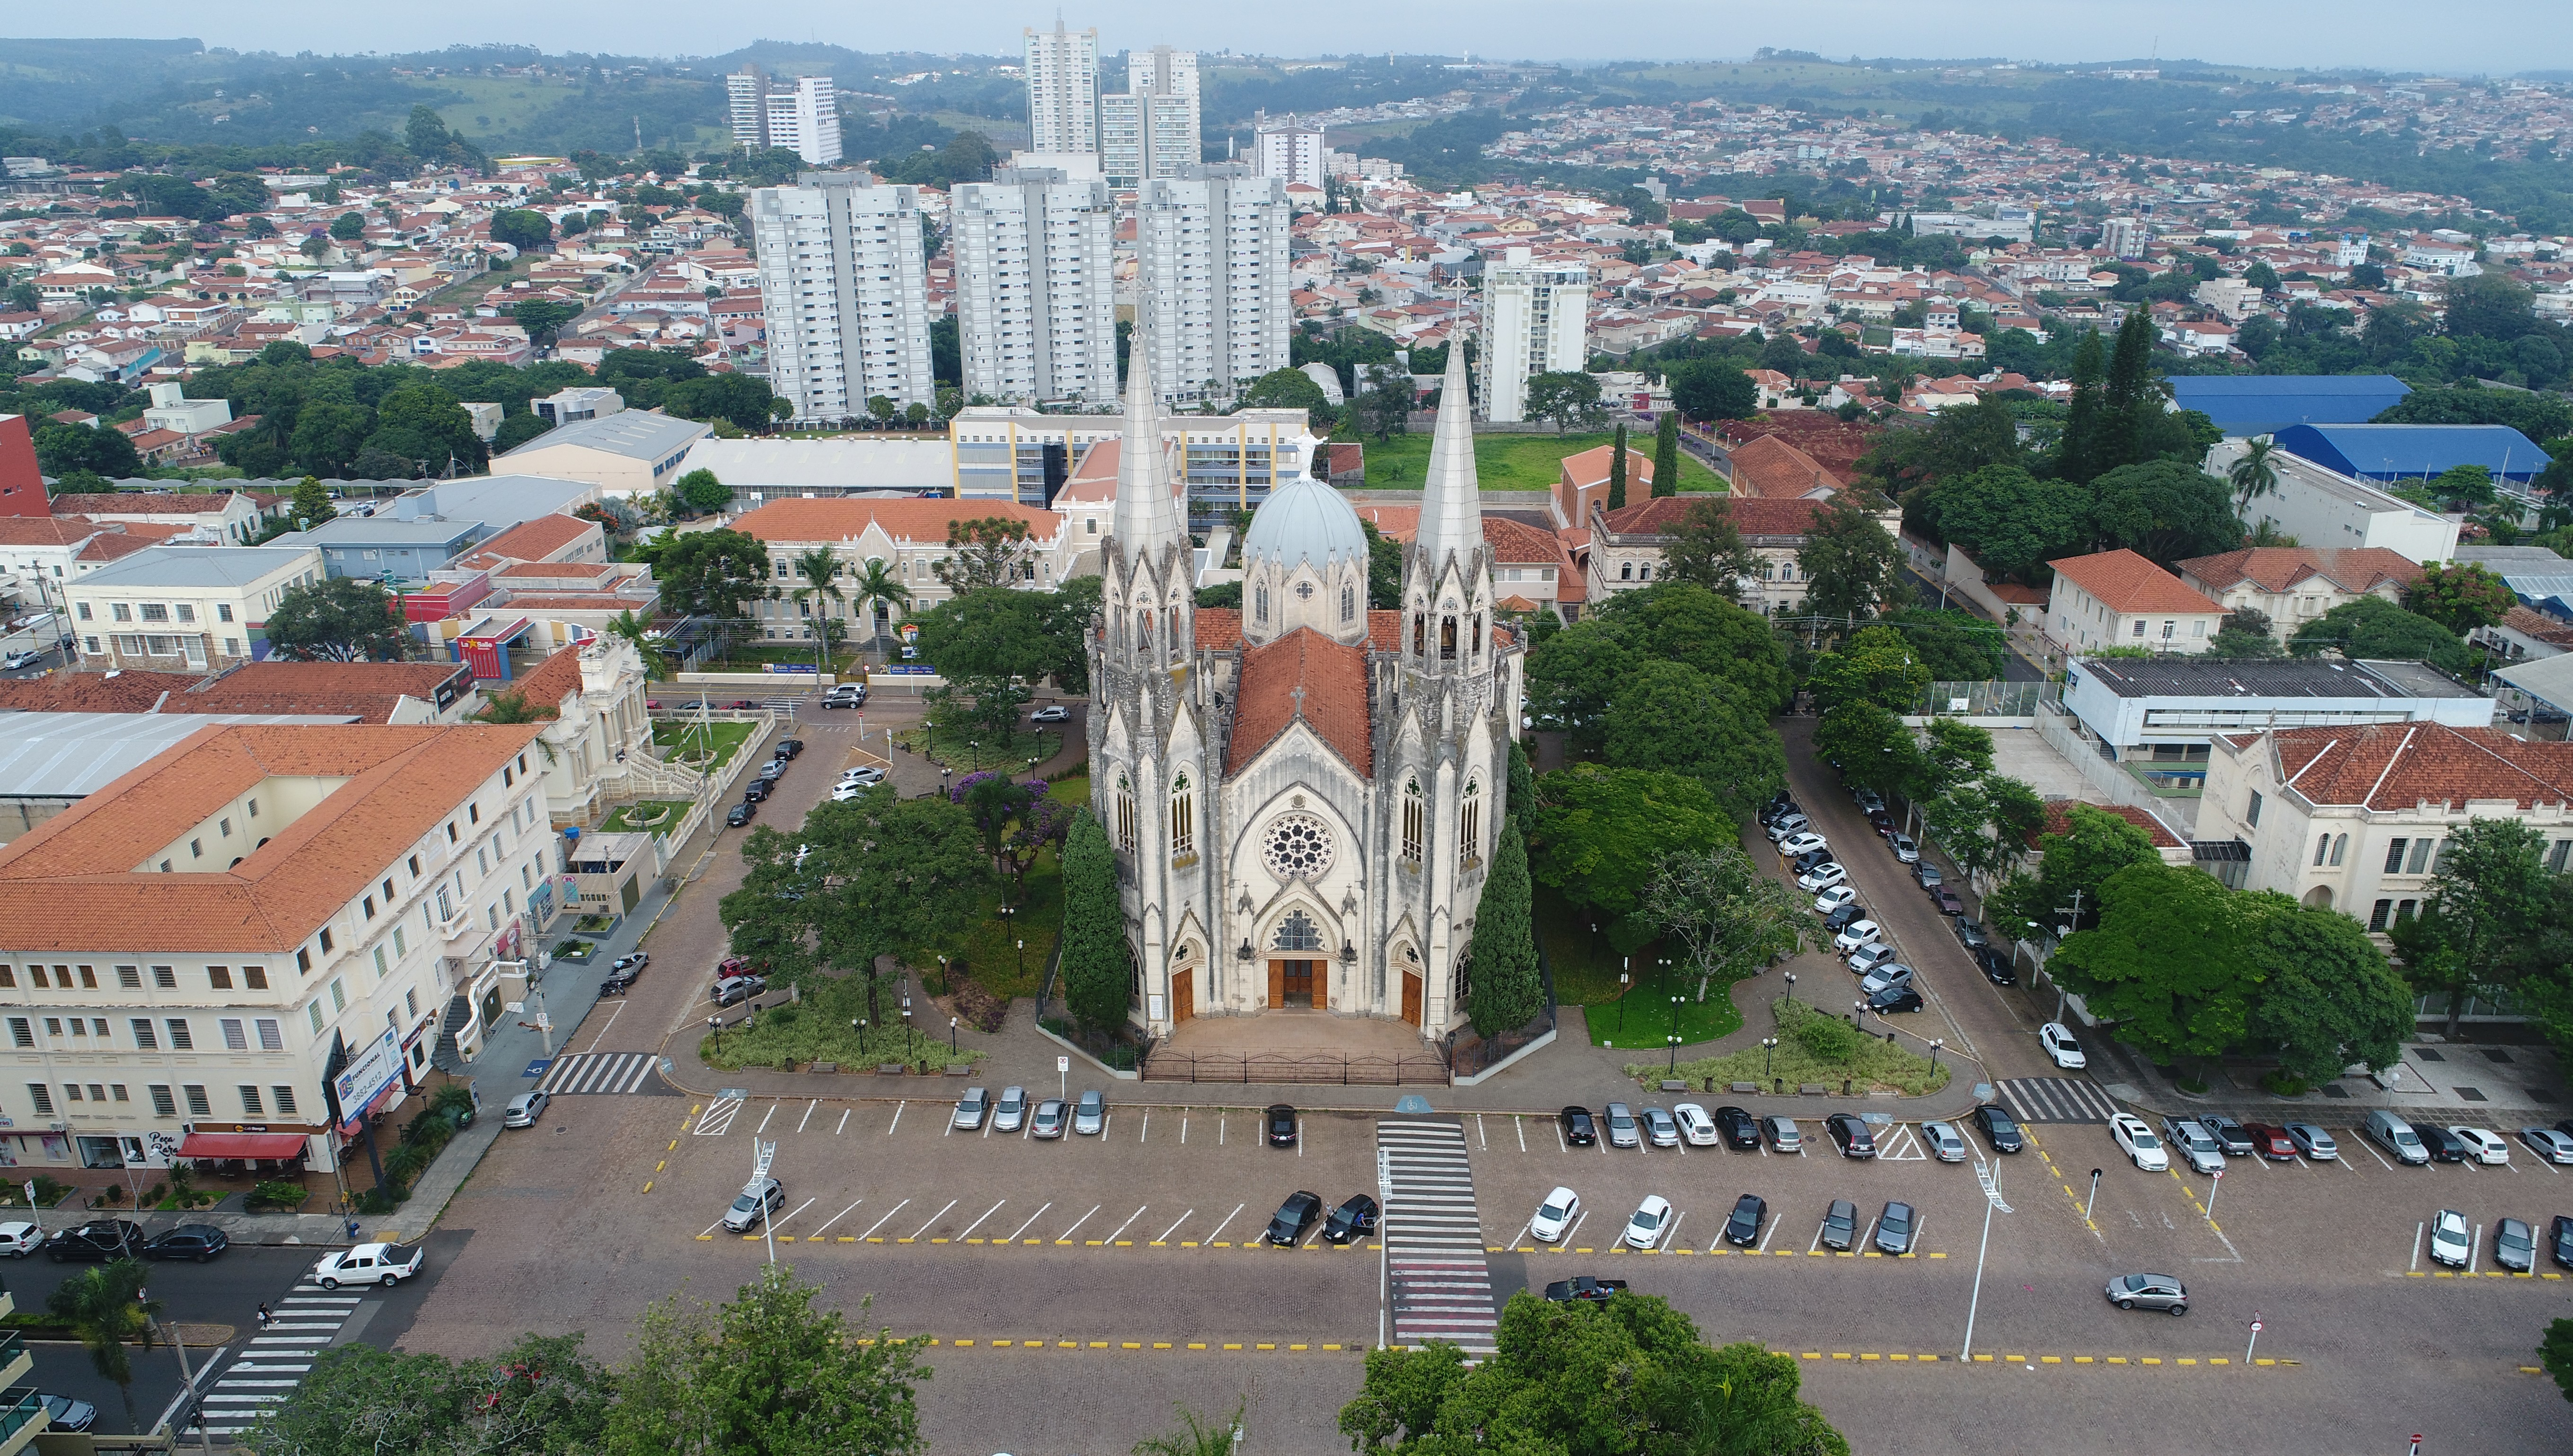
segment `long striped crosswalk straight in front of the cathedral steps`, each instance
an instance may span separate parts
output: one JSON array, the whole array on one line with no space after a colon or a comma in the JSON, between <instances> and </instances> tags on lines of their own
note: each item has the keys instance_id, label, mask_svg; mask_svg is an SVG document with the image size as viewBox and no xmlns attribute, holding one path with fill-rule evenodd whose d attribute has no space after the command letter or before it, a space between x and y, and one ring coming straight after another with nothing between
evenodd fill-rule
<instances>
[{"instance_id":1,"label":"long striped crosswalk straight in front of the cathedral steps","mask_svg":"<svg viewBox=\"0 0 2573 1456\"><path fill-rule=\"evenodd\" d=\"M1482 1255L1464 1124L1384 1119L1377 1122L1377 1150L1389 1170L1384 1266L1392 1279L1395 1343L1451 1340L1467 1353L1492 1353L1500 1317Z\"/></svg>"}]
</instances>

